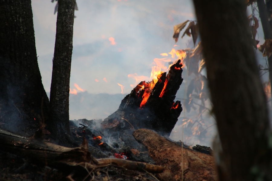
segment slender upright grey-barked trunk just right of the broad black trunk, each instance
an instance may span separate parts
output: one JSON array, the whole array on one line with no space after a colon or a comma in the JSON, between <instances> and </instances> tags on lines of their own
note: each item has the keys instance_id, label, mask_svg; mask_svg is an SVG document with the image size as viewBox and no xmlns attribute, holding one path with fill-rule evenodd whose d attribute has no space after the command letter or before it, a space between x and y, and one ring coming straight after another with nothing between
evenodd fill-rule
<instances>
[{"instance_id":1,"label":"slender upright grey-barked trunk just right of the broad black trunk","mask_svg":"<svg viewBox=\"0 0 272 181\"><path fill-rule=\"evenodd\" d=\"M57 32L50 90L49 130L64 136L69 128L69 88L73 50L73 24L75 0L59 0Z\"/></svg>"}]
</instances>

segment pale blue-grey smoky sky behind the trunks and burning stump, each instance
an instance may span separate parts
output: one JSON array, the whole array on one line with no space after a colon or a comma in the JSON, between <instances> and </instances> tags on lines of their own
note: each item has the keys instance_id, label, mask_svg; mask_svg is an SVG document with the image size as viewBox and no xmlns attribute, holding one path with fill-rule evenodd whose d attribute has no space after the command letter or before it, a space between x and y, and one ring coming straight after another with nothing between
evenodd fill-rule
<instances>
[{"instance_id":1,"label":"pale blue-grey smoky sky behind the trunks and burning stump","mask_svg":"<svg viewBox=\"0 0 272 181\"><path fill-rule=\"evenodd\" d=\"M51 0L32 0L38 64L47 93L50 92L56 36L55 5ZM193 48L191 37L179 38L177 43L172 38L174 25L196 20L192 1L78 0L77 6L70 77L71 91L76 90L77 95L70 94L70 119L105 119L134 88L130 85L140 82L128 77L129 74L145 76L149 81L154 59L164 58L161 53L168 53L172 48ZM248 14L251 14L250 8ZM256 38L262 44L261 23L257 31ZM259 63L264 64L261 53L256 51L256 55ZM267 81L267 76L262 79ZM124 86L124 90L118 84ZM184 97L185 85L186 79L177 93L177 100ZM183 109L171 139L178 141L186 137L181 134L182 120L186 116L195 117L194 113L186 113ZM209 125L214 124L209 113L206 120ZM189 144L211 146L215 125L208 132L211 133L209 141L199 142L199 138L194 137Z\"/></svg>"}]
</instances>

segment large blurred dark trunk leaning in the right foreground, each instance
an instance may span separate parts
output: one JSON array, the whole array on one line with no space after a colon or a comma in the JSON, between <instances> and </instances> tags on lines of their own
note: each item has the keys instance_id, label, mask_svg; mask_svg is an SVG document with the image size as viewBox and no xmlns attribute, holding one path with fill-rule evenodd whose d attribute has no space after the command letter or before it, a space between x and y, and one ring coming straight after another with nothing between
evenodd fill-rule
<instances>
[{"instance_id":1,"label":"large blurred dark trunk leaning in the right foreground","mask_svg":"<svg viewBox=\"0 0 272 181\"><path fill-rule=\"evenodd\" d=\"M243 0L194 0L227 174L272 180L266 97Z\"/></svg>"}]
</instances>

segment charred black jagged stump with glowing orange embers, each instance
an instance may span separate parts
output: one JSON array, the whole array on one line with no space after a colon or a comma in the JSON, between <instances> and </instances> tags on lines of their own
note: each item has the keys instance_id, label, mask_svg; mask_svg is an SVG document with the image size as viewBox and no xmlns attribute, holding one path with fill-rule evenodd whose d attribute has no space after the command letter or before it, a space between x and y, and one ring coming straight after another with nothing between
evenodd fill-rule
<instances>
[{"instance_id":1,"label":"charred black jagged stump with glowing orange embers","mask_svg":"<svg viewBox=\"0 0 272 181\"><path fill-rule=\"evenodd\" d=\"M174 102L183 81L182 64L178 60L157 80L142 81L122 101L118 110L102 123L105 129L153 129L170 135L182 111L180 101ZM156 82L157 81L157 82Z\"/></svg>"}]
</instances>

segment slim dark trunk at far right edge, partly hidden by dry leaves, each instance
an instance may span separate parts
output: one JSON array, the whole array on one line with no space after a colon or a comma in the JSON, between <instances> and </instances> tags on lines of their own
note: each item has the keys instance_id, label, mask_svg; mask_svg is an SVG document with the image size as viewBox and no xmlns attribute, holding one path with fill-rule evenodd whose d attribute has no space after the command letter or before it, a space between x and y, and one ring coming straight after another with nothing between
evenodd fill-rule
<instances>
[{"instance_id":1,"label":"slim dark trunk at far right edge, partly hidden by dry leaves","mask_svg":"<svg viewBox=\"0 0 272 181\"><path fill-rule=\"evenodd\" d=\"M259 14L262 22L262 27L264 31L264 39L272 39L272 29L271 25L268 21L268 13L267 8L265 7L263 0L257 0L257 5L259 9ZM270 87L272 85L272 56L270 56L268 59L268 70L269 70L269 81L270 81ZM272 98L272 91L271 91L271 98Z\"/></svg>"}]
</instances>

